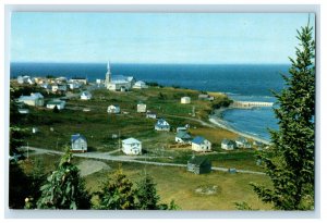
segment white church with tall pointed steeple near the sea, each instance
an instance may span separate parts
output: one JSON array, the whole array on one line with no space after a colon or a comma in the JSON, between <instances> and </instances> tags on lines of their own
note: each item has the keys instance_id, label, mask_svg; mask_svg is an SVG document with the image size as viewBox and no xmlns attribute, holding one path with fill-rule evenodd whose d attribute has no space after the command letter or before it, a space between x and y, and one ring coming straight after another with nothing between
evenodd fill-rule
<instances>
[{"instance_id":1,"label":"white church with tall pointed steeple near the sea","mask_svg":"<svg viewBox=\"0 0 327 223\"><path fill-rule=\"evenodd\" d=\"M135 79L132 76L111 75L110 63L107 64L107 73L105 85L106 88L112 91L126 91L132 88Z\"/></svg>"}]
</instances>

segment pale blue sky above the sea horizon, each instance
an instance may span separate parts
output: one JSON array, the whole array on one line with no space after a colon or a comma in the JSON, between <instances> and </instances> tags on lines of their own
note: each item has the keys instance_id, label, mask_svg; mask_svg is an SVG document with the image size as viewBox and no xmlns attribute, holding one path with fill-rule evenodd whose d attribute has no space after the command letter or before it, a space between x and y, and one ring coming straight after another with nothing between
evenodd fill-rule
<instances>
[{"instance_id":1,"label":"pale blue sky above the sea horizon","mask_svg":"<svg viewBox=\"0 0 327 223\"><path fill-rule=\"evenodd\" d=\"M14 12L12 62L288 63L307 13ZM311 14L314 24L314 15Z\"/></svg>"}]
</instances>

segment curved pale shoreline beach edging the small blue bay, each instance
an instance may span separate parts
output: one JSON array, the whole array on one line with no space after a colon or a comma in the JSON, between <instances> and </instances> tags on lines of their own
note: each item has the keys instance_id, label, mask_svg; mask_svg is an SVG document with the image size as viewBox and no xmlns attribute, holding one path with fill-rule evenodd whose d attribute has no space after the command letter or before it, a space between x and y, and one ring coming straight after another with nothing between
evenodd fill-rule
<instances>
[{"instance_id":1,"label":"curved pale shoreline beach edging the small blue bay","mask_svg":"<svg viewBox=\"0 0 327 223\"><path fill-rule=\"evenodd\" d=\"M233 132L235 134L239 134L240 136L243 136L243 137L246 137L246 138L251 138L253 140L261 141L261 143L266 144L266 145L270 145L271 144L267 139L264 139L264 138L261 138L261 137L247 134L247 133L243 133L243 132L237 131L233 127L229 126L226 123L226 121L222 119L222 112L226 111L226 110L229 110L229 109L238 109L238 108L222 108L222 109L215 110L215 114L209 115L209 122L211 124L218 126L218 127L225 128L225 129Z\"/></svg>"}]
</instances>

